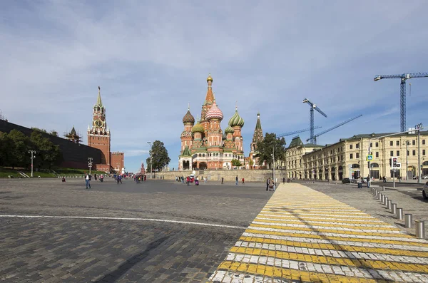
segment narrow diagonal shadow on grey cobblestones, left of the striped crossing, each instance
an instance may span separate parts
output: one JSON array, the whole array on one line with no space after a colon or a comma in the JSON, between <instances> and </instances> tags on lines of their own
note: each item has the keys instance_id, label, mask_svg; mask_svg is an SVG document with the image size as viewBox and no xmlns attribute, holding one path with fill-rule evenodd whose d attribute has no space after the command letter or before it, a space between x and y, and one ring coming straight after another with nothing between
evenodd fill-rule
<instances>
[{"instance_id":1,"label":"narrow diagonal shadow on grey cobblestones, left of the striped crossing","mask_svg":"<svg viewBox=\"0 0 428 283\"><path fill-rule=\"evenodd\" d=\"M143 261L143 259L146 259L146 257L148 257L148 255L153 249L159 247L159 245L161 245L167 239L168 237L162 237L156 241L149 243L146 249L143 250L143 252L139 252L138 254L134 254L133 256L129 257L128 259L126 259L126 262L119 265L116 270L113 270L112 272L106 274L103 278L97 280L96 282L106 282L106 279L108 279L108 282L116 282L116 280L120 279L123 274L125 274L134 265L138 264L138 262Z\"/></svg>"}]
</instances>

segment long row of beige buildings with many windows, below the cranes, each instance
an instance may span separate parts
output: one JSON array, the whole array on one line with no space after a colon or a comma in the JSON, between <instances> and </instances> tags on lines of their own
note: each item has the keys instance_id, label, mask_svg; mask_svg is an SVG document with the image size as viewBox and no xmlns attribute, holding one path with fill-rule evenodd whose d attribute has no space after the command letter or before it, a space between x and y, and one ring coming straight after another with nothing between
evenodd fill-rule
<instances>
[{"instance_id":1,"label":"long row of beige buildings with many windows, below the cranes","mask_svg":"<svg viewBox=\"0 0 428 283\"><path fill-rule=\"evenodd\" d=\"M401 169L395 176L417 176L417 134L403 133L380 138L389 133L354 135L332 145L303 145L301 140L287 148L287 175L295 179L342 180L345 177L392 178L389 159L397 156ZM301 143L301 144L300 144ZM373 156L370 170L367 162L369 150ZM407 154L406 154L407 150ZM428 174L428 131L420 133L420 159L422 176ZM300 160L301 163L300 163ZM371 171L371 172L370 172ZM302 173L300 173L302 172Z\"/></svg>"}]
</instances>

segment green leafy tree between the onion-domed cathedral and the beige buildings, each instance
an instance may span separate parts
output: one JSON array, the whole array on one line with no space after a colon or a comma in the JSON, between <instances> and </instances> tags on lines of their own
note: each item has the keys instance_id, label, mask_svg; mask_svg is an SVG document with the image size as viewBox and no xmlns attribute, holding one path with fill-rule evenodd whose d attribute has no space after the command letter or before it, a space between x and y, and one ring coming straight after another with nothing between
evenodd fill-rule
<instances>
[{"instance_id":1,"label":"green leafy tree between the onion-domed cathedral and the beige buildings","mask_svg":"<svg viewBox=\"0 0 428 283\"><path fill-rule=\"evenodd\" d=\"M258 165L272 165L272 154L275 148L275 163L285 161L285 138L277 138L275 133L266 133L265 139L257 143Z\"/></svg>"}]
</instances>

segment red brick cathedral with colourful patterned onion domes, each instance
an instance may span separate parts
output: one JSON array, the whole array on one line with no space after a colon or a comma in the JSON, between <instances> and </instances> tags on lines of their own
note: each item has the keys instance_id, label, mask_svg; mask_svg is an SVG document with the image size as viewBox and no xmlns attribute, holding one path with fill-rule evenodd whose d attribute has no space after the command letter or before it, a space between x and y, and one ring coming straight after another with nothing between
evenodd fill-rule
<instances>
[{"instance_id":1,"label":"red brick cathedral with colourful patterned onion domes","mask_svg":"<svg viewBox=\"0 0 428 283\"><path fill-rule=\"evenodd\" d=\"M208 76L208 91L202 105L200 120L190 113L190 107L183 117L184 130L181 133L181 150L178 170L190 169L233 169L232 160L244 163L243 118L235 108L228 127L221 129L223 112L215 103L213 78Z\"/></svg>"}]
</instances>

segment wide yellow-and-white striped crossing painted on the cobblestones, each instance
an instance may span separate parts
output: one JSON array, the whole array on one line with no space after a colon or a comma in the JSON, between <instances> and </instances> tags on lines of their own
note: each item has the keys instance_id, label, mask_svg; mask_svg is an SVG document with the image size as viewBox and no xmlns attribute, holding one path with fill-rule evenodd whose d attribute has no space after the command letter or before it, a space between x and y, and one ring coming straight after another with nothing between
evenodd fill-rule
<instances>
[{"instance_id":1,"label":"wide yellow-and-white striped crossing painted on the cobblestones","mask_svg":"<svg viewBox=\"0 0 428 283\"><path fill-rule=\"evenodd\" d=\"M358 192L370 202L367 194ZM428 242L322 192L283 184L210 280L428 282Z\"/></svg>"}]
</instances>

